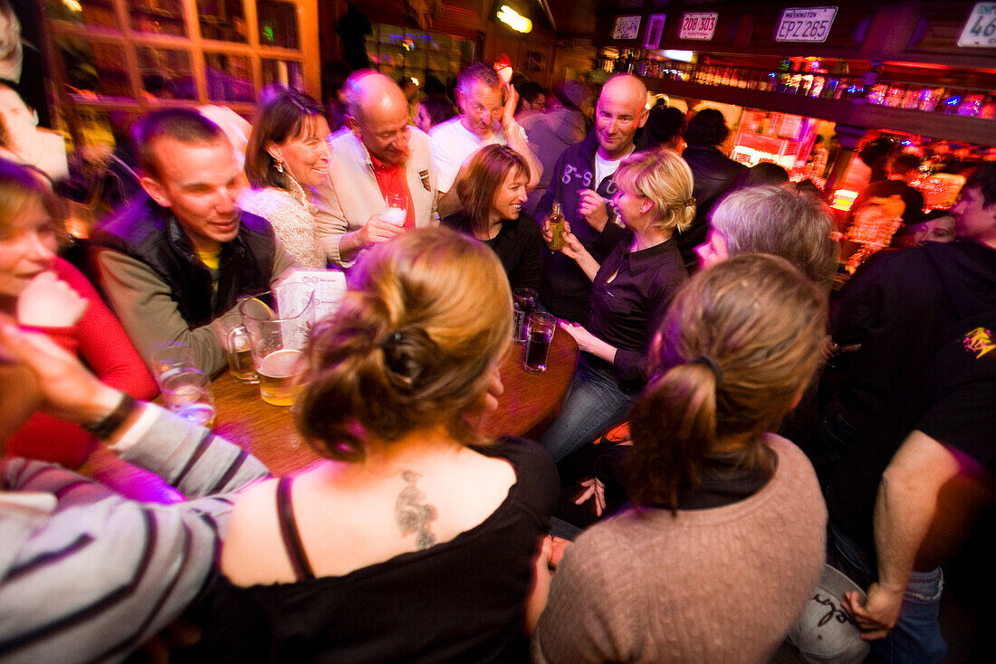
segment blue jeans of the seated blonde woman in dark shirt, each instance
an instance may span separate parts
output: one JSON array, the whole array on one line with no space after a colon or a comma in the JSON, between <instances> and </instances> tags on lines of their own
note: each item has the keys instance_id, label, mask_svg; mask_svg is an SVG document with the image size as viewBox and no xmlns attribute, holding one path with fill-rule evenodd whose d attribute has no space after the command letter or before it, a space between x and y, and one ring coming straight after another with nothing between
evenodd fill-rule
<instances>
[{"instance_id":1,"label":"blue jeans of the seated blonde woman in dark shirt","mask_svg":"<svg viewBox=\"0 0 996 664\"><path fill-rule=\"evenodd\" d=\"M582 356L561 414L540 436L540 445L554 461L561 461L622 423L636 396L622 389L611 368L595 366Z\"/></svg>"}]
</instances>

